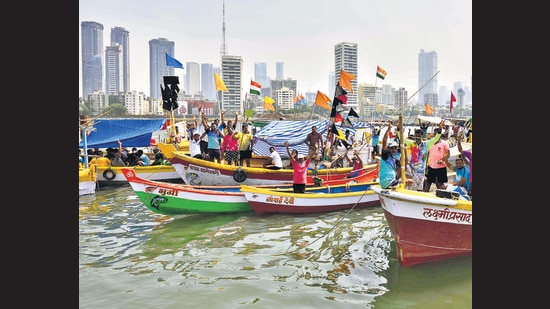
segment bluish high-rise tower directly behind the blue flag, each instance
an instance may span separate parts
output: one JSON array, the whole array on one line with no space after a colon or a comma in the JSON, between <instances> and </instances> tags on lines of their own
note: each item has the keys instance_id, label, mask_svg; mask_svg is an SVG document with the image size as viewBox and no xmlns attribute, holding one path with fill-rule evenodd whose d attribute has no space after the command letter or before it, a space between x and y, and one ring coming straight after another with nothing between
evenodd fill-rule
<instances>
[{"instance_id":1,"label":"bluish high-rise tower directly behind the blue flag","mask_svg":"<svg viewBox=\"0 0 550 309\"><path fill-rule=\"evenodd\" d=\"M162 99L160 86L164 87L164 76L174 76L174 68L166 65L166 53L174 57L174 45L173 41L165 38L149 41L149 90L152 99ZM179 82L179 88L182 88L183 81Z\"/></svg>"}]
</instances>

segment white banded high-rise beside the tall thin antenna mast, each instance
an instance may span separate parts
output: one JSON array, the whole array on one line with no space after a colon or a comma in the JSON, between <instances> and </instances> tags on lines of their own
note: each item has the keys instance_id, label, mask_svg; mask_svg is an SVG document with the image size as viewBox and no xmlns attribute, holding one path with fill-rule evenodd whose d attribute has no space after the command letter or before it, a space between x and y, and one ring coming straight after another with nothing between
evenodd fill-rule
<instances>
[{"instance_id":1,"label":"white banded high-rise beside the tall thin antenna mast","mask_svg":"<svg viewBox=\"0 0 550 309\"><path fill-rule=\"evenodd\" d=\"M222 76L220 76L227 87L227 91L222 91L221 108L226 114L231 115L238 112L243 114L242 110L242 74L243 58L241 56L222 55Z\"/></svg>"}]
</instances>

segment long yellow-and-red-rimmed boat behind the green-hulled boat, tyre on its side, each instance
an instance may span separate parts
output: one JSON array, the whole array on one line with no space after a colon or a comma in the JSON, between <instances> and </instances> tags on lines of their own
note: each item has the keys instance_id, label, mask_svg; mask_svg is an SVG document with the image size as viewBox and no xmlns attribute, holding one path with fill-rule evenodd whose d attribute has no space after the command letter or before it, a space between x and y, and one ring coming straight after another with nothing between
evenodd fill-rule
<instances>
[{"instance_id":1,"label":"long yellow-and-red-rimmed boat behind the green-hulled boat, tyre on its side","mask_svg":"<svg viewBox=\"0 0 550 309\"><path fill-rule=\"evenodd\" d=\"M210 162L207 160L196 159L189 155L175 151L175 147L170 144L157 143L160 150L169 158L170 163L176 169L185 183L190 185L266 185L292 183L294 171L292 169L270 170L261 167L261 163L256 165L251 163L250 167L234 166ZM263 163L264 159L260 162ZM377 164L365 166L365 171L371 171L377 168ZM351 167L320 169L315 175L314 171L309 170L307 184L317 182L342 180L351 173Z\"/></svg>"}]
</instances>

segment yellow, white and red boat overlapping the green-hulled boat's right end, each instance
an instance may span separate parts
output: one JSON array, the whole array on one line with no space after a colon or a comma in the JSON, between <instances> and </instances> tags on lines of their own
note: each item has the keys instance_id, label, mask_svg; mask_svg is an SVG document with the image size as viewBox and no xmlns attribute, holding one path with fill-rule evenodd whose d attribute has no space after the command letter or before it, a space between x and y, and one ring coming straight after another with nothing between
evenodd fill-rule
<instances>
[{"instance_id":1,"label":"yellow, white and red boat overlapping the green-hulled boat's right end","mask_svg":"<svg viewBox=\"0 0 550 309\"><path fill-rule=\"evenodd\" d=\"M241 185L241 192L257 214L306 214L378 206L378 196L370 190L373 184L377 182L323 186L306 193Z\"/></svg>"}]
</instances>

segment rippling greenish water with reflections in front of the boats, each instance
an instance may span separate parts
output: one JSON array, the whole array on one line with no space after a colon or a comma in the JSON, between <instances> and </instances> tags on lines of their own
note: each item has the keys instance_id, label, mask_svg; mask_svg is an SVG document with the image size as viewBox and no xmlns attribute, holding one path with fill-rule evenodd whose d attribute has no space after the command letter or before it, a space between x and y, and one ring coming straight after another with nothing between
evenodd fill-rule
<instances>
[{"instance_id":1,"label":"rippling greenish water with reflections in front of the boats","mask_svg":"<svg viewBox=\"0 0 550 309\"><path fill-rule=\"evenodd\" d=\"M400 267L380 207L169 217L124 186L79 210L80 308L471 307L471 258Z\"/></svg>"}]
</instances>

